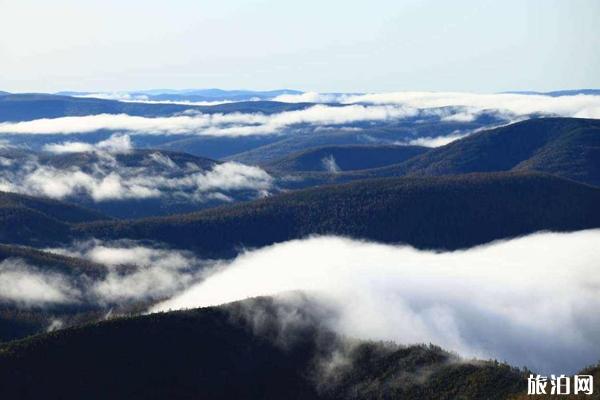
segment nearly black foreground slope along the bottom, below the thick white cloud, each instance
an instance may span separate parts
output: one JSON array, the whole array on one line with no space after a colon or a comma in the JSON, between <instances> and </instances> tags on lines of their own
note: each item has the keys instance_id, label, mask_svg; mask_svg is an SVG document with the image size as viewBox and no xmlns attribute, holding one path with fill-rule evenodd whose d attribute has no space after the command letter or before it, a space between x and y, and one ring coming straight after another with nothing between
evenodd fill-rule
<instances>
[{"instance_id":1,"label":"nearly black foreground slope along the bottom, below the thick white cloud","mask_svg":"<svg viewBox=\"0 0 600 400\"><path fill-rule=\"evenodd\" d=\"M292 314L293 326L277 317ZM326 374L334 354L350 362ZM266 298L0 346L6 399L502 399L525 382L519 370L460 362L433 346L348 343L303 309Z\"/></svg>"}]
</instances>

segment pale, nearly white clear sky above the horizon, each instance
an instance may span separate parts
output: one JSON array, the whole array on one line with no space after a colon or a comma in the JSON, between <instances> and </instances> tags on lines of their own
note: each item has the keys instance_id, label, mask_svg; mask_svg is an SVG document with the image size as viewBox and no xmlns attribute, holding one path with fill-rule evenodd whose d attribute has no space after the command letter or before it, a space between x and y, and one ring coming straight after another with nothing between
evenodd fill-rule
<instances>
[{"instance_id":1,"label":"pale, nearly white clear sky above the horizon","mask_svg":"<svg viewBox=\"0 0 600 400\"><path fill-rule=\"evenodd\" d=\"M598 0L0 0L0 90L600 87Z\"/></svg>"}]
</instances>

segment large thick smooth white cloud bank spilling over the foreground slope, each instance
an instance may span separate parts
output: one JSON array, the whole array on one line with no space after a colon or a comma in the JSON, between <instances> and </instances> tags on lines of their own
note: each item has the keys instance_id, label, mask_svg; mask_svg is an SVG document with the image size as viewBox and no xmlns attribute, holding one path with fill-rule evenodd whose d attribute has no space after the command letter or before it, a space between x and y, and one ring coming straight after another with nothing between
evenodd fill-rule
<instances>
[{"instance_id":1,"label":"large thick smooth white cloud bank spilling over the foreground slope","mask_svg":"<svg viewBox=\"0 0 600 400\"><path fill-rule=\"evenodd\" d=\"M348 336L568 373L600 359L598 248L600 230L447 253L310 238L247 252L153 311L305 291Z\"/></svg>"}]
</instances>

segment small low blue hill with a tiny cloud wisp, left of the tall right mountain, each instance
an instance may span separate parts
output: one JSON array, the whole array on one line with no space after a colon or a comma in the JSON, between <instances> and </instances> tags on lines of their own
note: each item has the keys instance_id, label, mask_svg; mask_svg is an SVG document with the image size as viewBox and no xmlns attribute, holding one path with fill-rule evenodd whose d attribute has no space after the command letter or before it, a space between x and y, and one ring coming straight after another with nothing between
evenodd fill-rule
<instances>
[{"instance_id":1,"label":"small low blue hill with a tiny cloud wisp, left of the tall right mountain","mask_svg":"<svg viewBox=\"0 0 600 400\"><path fill-rule=\"evenodd\" d=\"M422 146L323 146L290 154L263 167L277 172L328 171L325 160L333 159L340 171L353 171L398 164L428 150Z\"/></svg>"}]
</instances>

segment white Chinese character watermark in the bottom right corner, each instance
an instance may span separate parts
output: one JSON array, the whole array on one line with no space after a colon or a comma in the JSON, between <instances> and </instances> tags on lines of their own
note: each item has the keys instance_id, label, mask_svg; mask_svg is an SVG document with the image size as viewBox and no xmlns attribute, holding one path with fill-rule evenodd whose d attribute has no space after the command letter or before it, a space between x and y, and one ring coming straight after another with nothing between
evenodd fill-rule
<instances>
[{"instance_id":1,"label":"white Chinese character watermark in the bottom right corner","mask_svg":"<svg viewBox=\"0 0 600 400\"><path fill-rule=\"evenodd\" d=\"M550 385L548 385L550 383ZM572 385L571 385L572 383ZM527 394L550 394L550 395L568 395L568 394L585 394L591 395L594 393L594 377L592 375L575 375L570 376L550 375L529 375L527 378Z\"/></svg>"}]
</instances>

